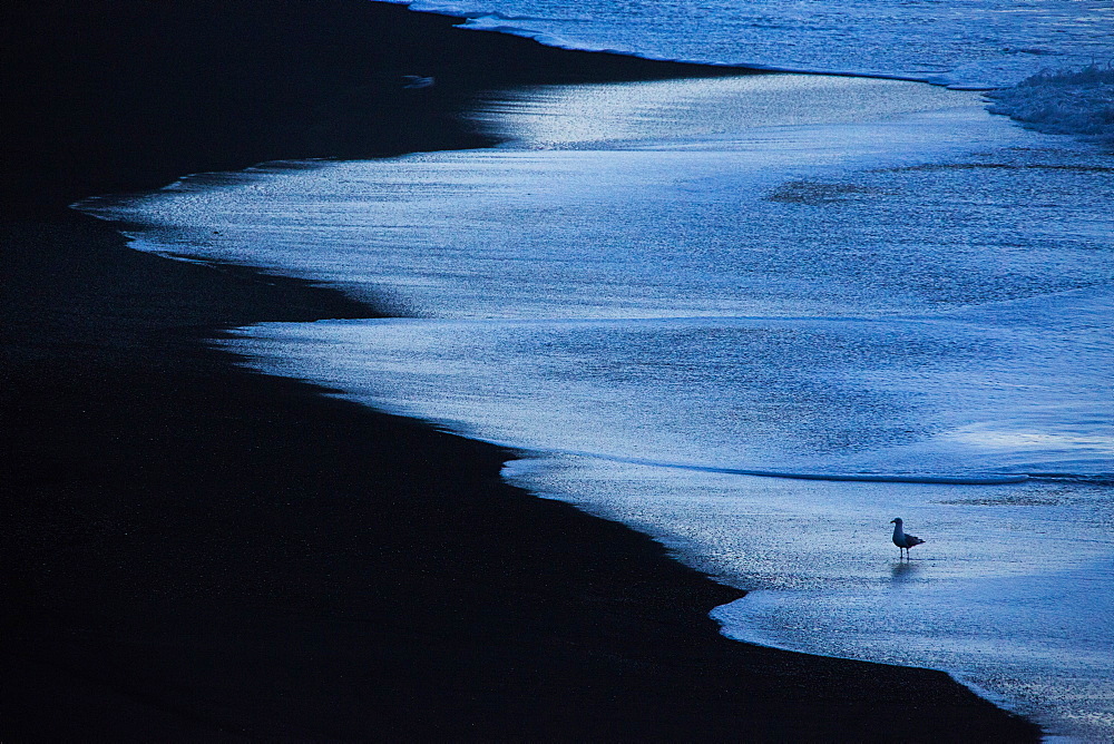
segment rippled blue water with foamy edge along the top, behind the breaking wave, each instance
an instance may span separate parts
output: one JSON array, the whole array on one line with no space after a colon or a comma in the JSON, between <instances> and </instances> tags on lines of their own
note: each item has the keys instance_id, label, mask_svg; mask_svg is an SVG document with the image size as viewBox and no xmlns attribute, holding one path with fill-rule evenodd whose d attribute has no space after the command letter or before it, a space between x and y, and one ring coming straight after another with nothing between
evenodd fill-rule
<instances>
[{"instance_id":1,"label":"rippled blue water with foamy edge along the top, behind the breaking wave","mask_svg":"<svg viewBox=\"0 0 1114 744\"><path fill-rule=\"evenodd\" d=\"M1102 0L419 0L558 47L1009 86L1044 68L1114 58Z\"/></svg>"}]
</instances>

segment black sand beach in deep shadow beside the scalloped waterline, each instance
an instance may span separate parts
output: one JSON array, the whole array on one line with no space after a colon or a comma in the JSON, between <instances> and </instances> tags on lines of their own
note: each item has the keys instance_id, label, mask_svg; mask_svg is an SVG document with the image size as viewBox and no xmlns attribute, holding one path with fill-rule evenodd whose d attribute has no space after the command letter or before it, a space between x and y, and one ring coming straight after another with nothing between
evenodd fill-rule
<instances>
[{"instance_id":1,"label":"black sand beach in deep shadow beside the scalloped waterline","mask_svg":"<svg viewBox=\"0 0 1114 744\"><path fill-rule=\"evenodd\" d=\"M0 741L1039 737L941 673L722 638L707 611L736 591L506 486L498 449L205 343L375 309L141 254L66 207L478 146L453 114L490 87L716 70L364 0L9 14Z\"/></svg>"}]
</instances>

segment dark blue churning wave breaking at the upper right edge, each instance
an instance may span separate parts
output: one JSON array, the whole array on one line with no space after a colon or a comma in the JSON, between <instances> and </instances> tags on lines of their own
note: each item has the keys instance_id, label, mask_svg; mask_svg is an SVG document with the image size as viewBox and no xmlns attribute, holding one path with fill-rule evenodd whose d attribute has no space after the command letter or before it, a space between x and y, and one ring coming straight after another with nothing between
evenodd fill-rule
<instances>
[{"instance_id":1,"label":"dark blue churning wave breaking at the upper right edge","mask_svg":"<svg viewBox=\"0 0 1114 744\"><path fill-rule=\"evenodd\" d=\"M1045 70L987 94L991 114L1038 131L1076 135L1114 146L1114 65Z\"/></svg>"}]
</instances>

